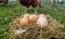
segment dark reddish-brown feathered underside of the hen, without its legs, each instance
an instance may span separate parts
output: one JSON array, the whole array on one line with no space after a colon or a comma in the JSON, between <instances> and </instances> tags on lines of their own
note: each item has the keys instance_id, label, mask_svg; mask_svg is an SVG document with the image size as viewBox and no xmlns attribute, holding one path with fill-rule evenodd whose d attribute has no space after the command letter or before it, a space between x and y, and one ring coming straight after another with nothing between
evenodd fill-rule
<instances>
[{"instance_id":1,"label":"dark reddish-brown feathered underside of the hen, without its legs","mask_svg":"<svg viewBox=\"0 0 65 39\"><path fill-rule=\"evenodd\" d=\"M20 0L20 3L29 8L29 5L32 5L34 8L36 8L37 5L39 5L40 1L39 0Z\"/></svg>"}]
</instances>

